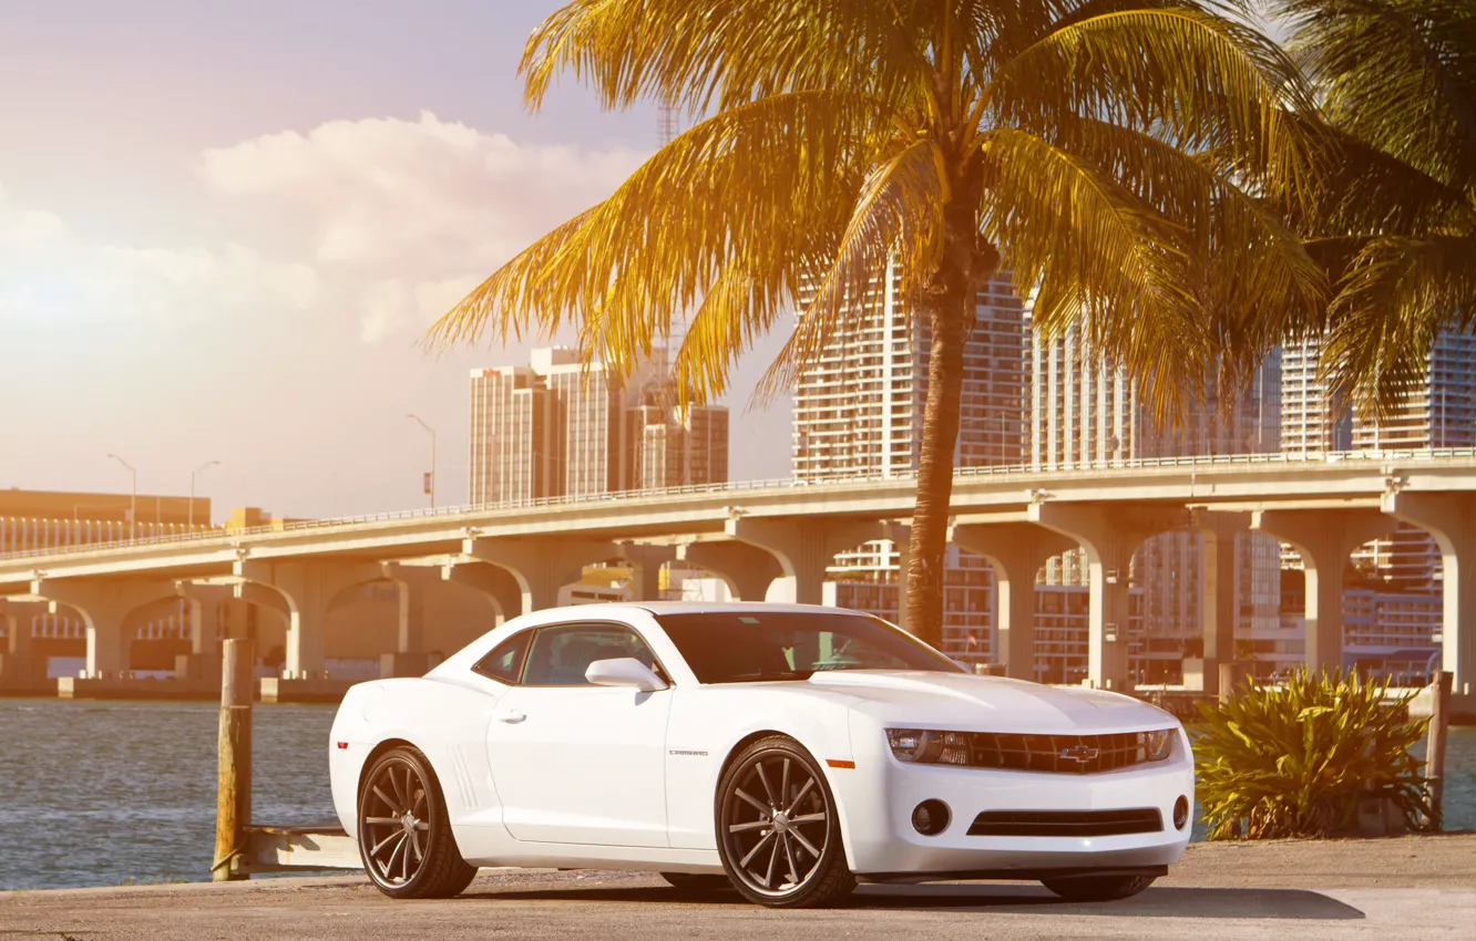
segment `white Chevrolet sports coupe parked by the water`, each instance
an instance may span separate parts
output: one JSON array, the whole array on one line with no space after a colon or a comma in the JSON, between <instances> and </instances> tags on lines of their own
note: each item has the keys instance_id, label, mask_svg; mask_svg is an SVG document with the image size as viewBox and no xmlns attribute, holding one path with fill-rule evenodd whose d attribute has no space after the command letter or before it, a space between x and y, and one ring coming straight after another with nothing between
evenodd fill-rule
<instances>
[{"instance_id":1,"label":"white Chevrolet sports coupe parked by the water","mask_svg":"<svg viewBox=\"0 0 1476 941\"><path fill-rule=\"evenodd\" d=\"M334 804L373 883L636 869L822 906L858 881L1038 879L1123 898L1178 861L1184 729L1128 696L964 671L871 615L584 605L348 690Z\"/></svg>"}]
</instances>

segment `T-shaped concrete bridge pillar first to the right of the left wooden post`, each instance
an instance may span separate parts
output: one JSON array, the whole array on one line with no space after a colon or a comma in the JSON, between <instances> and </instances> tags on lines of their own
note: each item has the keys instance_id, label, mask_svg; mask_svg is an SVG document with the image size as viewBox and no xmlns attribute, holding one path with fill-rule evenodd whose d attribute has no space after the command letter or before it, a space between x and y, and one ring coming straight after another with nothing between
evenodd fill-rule
<instances>
[{"instance_id":1,"label":"T-shaped concrete bridge pillar first to the right of the left wooden post","mask_svg":"<svg viewBox=\"0 0 1476 941\"><path fill-rule=\"evenodd\" d=\"M238 578L277 593L288 609L286 662L283 680L325 678L323 639L328 608L334 597L365 581L382 578L378 563L370 562L297 562L255 560L235 563ZM261 600L272 606L260 590L242 586L244 600Z\"/></svg>"}]
</instances>

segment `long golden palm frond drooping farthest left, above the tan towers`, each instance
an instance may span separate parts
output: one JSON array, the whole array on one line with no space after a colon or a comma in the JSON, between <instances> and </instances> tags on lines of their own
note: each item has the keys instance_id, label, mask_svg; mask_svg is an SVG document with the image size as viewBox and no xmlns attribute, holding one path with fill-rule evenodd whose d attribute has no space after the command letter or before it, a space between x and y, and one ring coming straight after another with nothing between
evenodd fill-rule
<instances>
[{"instance_id":1,"label":"long golden palm frond drooping farthest left, above the tan towers","mask_svg":"<svg viewBox=\"0 0 1476 941\"><path fill-rule=\"evenodd\" d=\"M568 319L584 348L623 376L739 249L756 310L781 302L799 271L834 254L877 124L871 102L832 91L723 111L499 268L432 327L432 342L477 339L489 322L506 338Z\"/></svg>"}]
</instances>

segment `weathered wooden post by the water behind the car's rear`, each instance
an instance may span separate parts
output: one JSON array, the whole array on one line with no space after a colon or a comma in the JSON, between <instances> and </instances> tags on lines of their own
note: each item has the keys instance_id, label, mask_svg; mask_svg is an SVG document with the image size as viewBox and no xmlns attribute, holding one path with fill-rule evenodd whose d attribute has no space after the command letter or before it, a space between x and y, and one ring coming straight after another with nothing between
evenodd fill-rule
<instances>
[{"instance_id":1,"label":"weathered wooden post by the water behind the car's rear","mask_svg":"<svg viewBox=\"0 0 1476 941\"><path fill-rule=\"evenodd\" d=\"M215 863L213 882L248 876L236 873L236 857L246 851L251 823L251 699L255 652L249 640L227 640L221 650L220 771L215 777Z\"/></svg>"}]
</instances>

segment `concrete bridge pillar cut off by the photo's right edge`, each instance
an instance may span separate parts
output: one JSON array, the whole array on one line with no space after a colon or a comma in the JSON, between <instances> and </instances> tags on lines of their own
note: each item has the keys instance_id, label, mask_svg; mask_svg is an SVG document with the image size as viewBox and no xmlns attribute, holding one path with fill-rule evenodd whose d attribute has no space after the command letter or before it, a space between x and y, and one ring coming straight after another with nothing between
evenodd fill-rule
<instances>
[{"instance_id":1,"label":"concrete bridge pillar cut off by the photo's right edge","mask_svg":"<svg viewBox=\"0 0 1476 941\"><path fill-rule=\"evenodd\" d=\"M1476 494L1386 493L1383 510L1426 529L1441 549L1442 670L1452 711L1476 715Z\"/></svg>"}]
</instances>

